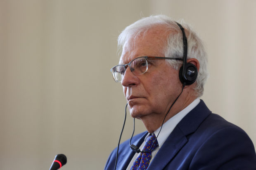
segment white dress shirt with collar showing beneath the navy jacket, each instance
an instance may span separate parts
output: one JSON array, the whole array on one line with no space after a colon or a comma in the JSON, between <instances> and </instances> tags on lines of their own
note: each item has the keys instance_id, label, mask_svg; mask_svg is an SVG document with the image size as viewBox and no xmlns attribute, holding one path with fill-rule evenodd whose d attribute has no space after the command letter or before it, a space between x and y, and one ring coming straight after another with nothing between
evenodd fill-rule
<instances>
[{"instance_id":1,"label":"white dress shirt with collar showing beneath the navy jacket","mask_svg":"<svg viewBox=\"0 0 256 170\"><path fill-rule=\"evenodd\" d=\"M158 128L156 131L154 131L154 134L157 137L157 142L159 144L159 147L157 147L156 149L154 149L154 151L152 151L152 159L154 158L154 156L156 155L156 153L159 151L159 149L161 148L161 146L164 144L164 142L166 141L167 137L172 133L173 129L175 128L175 126L181 121L181 119L183 119L183 117L185 117L192 109L194 109L194 107L196 107L200 102L200 99L197 98L196 100L194 100L192 103L190 103L190 105L188 105L185 109L183 109L182 111L178 112L177 114L175 114L173 117L171 117L171 119L169 119L168 121L166 121L160 131L160 128ZM145 137L145 140L147 139L147 137L149 137L150 134L147 134L147 136ZM142 144L140 145L140 150L142 150L144 144L145 144L145 140L144 142L142 142ZM131 166L133 165L133 162L136 160L138 154L140 153L136 153L132 160L130 161L130 164L128 165L126 170L130 170Z\"/></svg>"}]
</instances>

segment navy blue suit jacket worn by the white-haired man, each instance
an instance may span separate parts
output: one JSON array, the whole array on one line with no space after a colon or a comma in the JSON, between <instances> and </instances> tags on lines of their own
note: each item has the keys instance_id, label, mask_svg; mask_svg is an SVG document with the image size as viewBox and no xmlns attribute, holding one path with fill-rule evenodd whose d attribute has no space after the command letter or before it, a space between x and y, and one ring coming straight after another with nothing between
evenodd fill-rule
<instances>
[{"instance_id":1,"label":"navy blue suit jacket worn by the white-haired man","mask_svg":"<svg viewBox=\"0 0 256 170\"><path fill-rule=\"evenodd\" d=\"M140 146L147 132L133 137ZM129 140L119 147L116 170L126 170L135 152ZM105 170L114 170L116 149ZM241 128L211 113L201 100L174 128L147 170L256 170L256 154Z\"/></svg>"}]
</instances>

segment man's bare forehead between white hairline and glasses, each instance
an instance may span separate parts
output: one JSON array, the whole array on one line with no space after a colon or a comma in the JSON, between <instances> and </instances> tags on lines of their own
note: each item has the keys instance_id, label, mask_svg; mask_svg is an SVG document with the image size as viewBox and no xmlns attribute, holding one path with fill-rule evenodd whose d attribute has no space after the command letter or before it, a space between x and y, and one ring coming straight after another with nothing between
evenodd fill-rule
<instances>
[{"instance_id":1,"label":"man's bare forehead between white hairline and glasses","mask_svg":"<svg viewBox=\"0 0 256 170\"><path fill-rule=\"evenodd\" d=\"M119 64L129 63L141 56L164 57L164 49L170 31L160 26L148 30L145 34L138 35L135 40L131 38L123 45Z\"/></svg>"}]
</instances>

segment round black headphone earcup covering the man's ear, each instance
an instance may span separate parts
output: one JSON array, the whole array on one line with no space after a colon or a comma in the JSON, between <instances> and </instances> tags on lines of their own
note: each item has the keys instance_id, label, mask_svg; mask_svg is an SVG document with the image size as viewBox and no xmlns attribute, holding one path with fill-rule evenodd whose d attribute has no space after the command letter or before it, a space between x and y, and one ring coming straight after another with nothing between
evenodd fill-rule
<instances>
[{"instance_id":1,"label":"round black headphone earcup covering the man's ear","mask_svg":"<svg viewBox=\"0 0 256 170\"><path fill-rule=\"evenodd\" d=\"M197 67L194 64L186 63L184 72L183 66L180 67L179 77L183 85L193 84L197 79Z\"/></svg>"}]
</instances>

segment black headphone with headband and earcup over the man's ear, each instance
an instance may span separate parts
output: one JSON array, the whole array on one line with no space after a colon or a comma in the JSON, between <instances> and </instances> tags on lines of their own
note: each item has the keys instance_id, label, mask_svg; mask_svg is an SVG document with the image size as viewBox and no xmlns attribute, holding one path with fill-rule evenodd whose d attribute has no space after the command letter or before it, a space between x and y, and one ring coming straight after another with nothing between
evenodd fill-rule
<instances>
[{"instance_id":1,"label":"black headphone with headband and earcup over the man's ear","mask_svg":"<svg viewBox=\"0 0 256 170\"><path fill-rule=\"evenodd\" d=\"M177 23L177 22L176 22ZM180 67L179 78L183 86L193 84L197 79L197 67L187 63L187 37L184 28L177 23L183 34L183 65Z\"/></svg>"}]
</instances>

